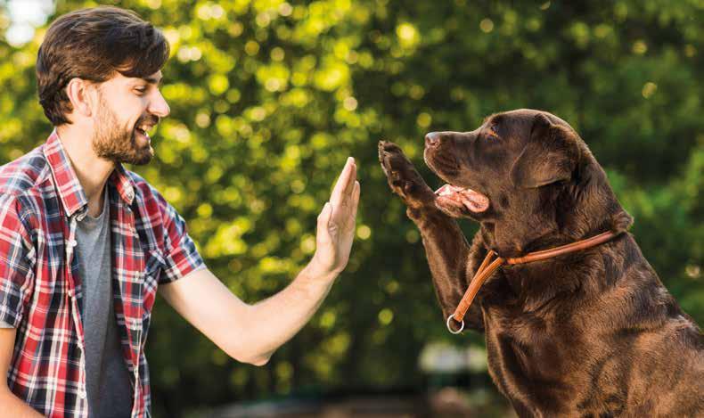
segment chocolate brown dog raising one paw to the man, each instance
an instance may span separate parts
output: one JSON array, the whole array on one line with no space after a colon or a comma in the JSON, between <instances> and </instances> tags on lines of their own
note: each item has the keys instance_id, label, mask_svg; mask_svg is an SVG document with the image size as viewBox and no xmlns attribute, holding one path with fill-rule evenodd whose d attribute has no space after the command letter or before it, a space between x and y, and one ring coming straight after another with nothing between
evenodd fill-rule
<instances>
[{"instance_id":1,"label":"chocolate brown dog raising one paw to the man","mask_svg":"<svg viewBox=\"0 0 704 418\"><path fill-rule=\"evenodd\" d=\"M632 218L565 121L509 111L471 132L426 135L425 161L447 182L437 193L396 144L381 142L379 157L421 231L445 318L487 250L517 257L620 233L503 266L480 289L465 323L485 332L489 373L520 416L704 415L704 336L626 233ZM456 217L479 222L471 245Z\"/></svg>"}]
</instances>

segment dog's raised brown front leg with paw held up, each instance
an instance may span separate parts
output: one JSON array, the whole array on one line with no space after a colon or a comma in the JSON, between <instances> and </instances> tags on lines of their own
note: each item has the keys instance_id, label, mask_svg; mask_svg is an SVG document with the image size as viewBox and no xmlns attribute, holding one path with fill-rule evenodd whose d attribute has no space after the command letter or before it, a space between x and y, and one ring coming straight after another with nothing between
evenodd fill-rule
<instances>
[{"instance_id":1,"label":"dog's raised brown front leg with paw held up","mask_svg":"<svg viewBox=\"0 0 704 418\"><path fill-rule=\"evenodd\" d=\"M421 231L435 291L445 318L463 297L471 275L479 267L470 255L460 226L435 206L435 193L395 143L379 143L379 160L391 190L405 202L406 214ZM472 245L472 252L475 250ZM468 277L469 275L469 277ZM483 330L479 304L472 304L464 319L465 328ZM454 324L457 326L457 324Z\"/></svg>"}]
</instances>

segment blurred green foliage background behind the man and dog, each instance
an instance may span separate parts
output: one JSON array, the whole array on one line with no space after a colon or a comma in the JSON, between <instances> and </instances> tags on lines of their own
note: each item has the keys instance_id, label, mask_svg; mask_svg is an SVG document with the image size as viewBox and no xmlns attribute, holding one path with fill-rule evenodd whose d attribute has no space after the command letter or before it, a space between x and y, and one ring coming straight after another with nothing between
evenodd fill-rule
<instances>
[{"instance_id":1,"label":"blurred green foliage background behind the man and dog","mask_svg":"<svg viewBox=\"0 0 704 418\"><path fill-rule=\"evenodd\" d=\"M157 303L154 416L512 416L482 336L446 332L419 234L376 156L379 139L395 141L439 185L423 135L495 111L542 109L577 129L646 258L704 324L704 2L0 0L0 164L51 132L34 72L48 22L95 4L168 37L171 116L152 135L156 159L132 169L241 299L306 265L348 155L362 184L348 269L268 365L234 362Z\"/></svg>"}]
</instances>

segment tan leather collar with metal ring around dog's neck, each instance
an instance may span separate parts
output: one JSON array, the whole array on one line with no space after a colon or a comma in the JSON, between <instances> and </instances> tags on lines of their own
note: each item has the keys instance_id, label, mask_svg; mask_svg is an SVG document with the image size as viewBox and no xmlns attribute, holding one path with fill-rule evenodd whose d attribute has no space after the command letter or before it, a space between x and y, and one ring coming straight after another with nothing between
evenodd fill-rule
<instances>
[{"instance_id":1,"label":"tan leather collar with metal ring around dog's neck","mask_svg":"<svg viewBox=\"0 0 704 418\"><path fill-rule=\"evenodd\" d=\"M515 265L515 264L525 264L525 263L531 263L533 261L539 261L539 260L544 260L547 258L553 258L560 256L562 254L567 254L569 252L574 252L578 250L585 250L594 246L597 246L599 244L602 244L604 242L608 242L618 236L619 233L613 233L613 232L605 232L602 234L594 235L591 238L587 238L582 241L577 241L577 242L572 242L566 245L561 245L560 247L555 247L552 249L548 250L540 250L540 251L535 251L535 252L529 252L523 257L517 257L517 258L501 258L497 257L494 261L492 261L492 258L496 256L496 253L492 250L489 250L487 257L484 258L484 261L481 262L481 266L479 266L479 269L477 270L477 273L474 275L474 277L471 279L470 282L470 287L467 288L467 291L464 292L464 296L462 300L460 300L460 304L457 305L457 308L454 309L454 314L451 316L447 316L447 330L450 332L457 334L462 332L464 329L464 315L467 314L467 310L471 306L472 300L474 300L474 297L477 296L477 293L479 292L479 288L481 287L484 282L487 281L489 276L491 276L497 268L502 266L503 264L509 264L509 265ZM453 331L452 327L450 327L450 321L454 319L458 323L461 323L462 325L460 326L460 329L457 331Z\"/></svg>"}]
</instances>

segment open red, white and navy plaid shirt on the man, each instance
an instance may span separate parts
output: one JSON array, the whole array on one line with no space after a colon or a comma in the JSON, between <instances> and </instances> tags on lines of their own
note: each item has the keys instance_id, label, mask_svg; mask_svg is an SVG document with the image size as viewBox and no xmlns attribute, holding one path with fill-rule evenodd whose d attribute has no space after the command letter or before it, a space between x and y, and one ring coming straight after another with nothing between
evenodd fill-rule
<instances>
[{"instance_id":1,"label":"open red, white and navy plaid shirt on the man","mask_svg":"<svg viewBox=\"0 0 704 418\"><path fill-rule=\"evenodd\" d=\"M108 179L112 291L132 416L150 415L144 342L157 286L204 266L185 222L150 184L118 164ZM17 328L7 382L42 414L86 417L76 224L87 200L54 131L0 167L0 320Z\"/></svg>"}]
</instances>

